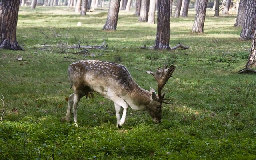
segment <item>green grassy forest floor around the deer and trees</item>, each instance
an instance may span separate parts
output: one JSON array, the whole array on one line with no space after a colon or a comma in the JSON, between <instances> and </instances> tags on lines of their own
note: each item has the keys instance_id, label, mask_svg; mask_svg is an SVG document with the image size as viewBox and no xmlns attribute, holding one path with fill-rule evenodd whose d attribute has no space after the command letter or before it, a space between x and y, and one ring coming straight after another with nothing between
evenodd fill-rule
<instances>
[{"instance_id":1,"label":"green grassy forest floor around the deer and trees","mask_svg":"<svg viewBox=\"0 0 256 160\"><path fill-rule=\"evenodd\" d=\"M106 9L82 17L65 7L20 8L17 38L25 51L0 50L0 94L6 109L0 122L0 160L254 159L255 75L236 74L246 64L251 41L238 40L235 15L213 14L207 11L204 34L190 33L193 10L188 18L171 18L170 45L181 42L190 49L154 51L140 46L154 44L156 24L138 22L133 12L121 11L118 30L107 32L101 30ZM108 49L89 50L87 56L66 48L78 41L100 45L103 39ZM72 93L67 68L82 59L124 64L147 90L157 87L147 70L177 65L164 88L173 104L163 105L162 123L130 109L118 129L113 102L98 94L81 100L79 128L62 121L65 98Z\"/></svg>"}]
</instances>

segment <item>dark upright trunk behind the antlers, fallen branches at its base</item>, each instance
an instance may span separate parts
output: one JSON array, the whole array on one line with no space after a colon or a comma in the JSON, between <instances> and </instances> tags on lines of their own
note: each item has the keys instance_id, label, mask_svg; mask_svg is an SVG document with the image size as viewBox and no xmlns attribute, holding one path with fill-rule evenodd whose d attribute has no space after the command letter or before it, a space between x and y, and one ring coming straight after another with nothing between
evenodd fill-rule
<instances>
[{"instance_id":1,"label":"dark upright trunk behind the antlers, fallen branches at its base","mask_svg":"<svg viewBox=\"0 0 256 160\"><path fill-rule=\"evenodd\" d=\"M157 31L154 49L170 49L170 1L158 0Z\"/></svg>"}]
</instances>

